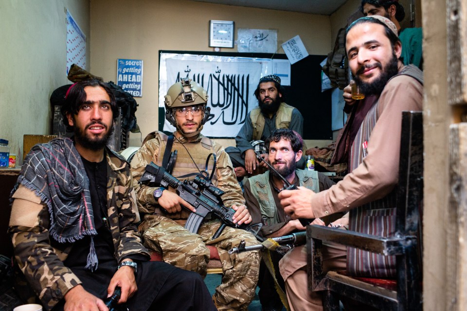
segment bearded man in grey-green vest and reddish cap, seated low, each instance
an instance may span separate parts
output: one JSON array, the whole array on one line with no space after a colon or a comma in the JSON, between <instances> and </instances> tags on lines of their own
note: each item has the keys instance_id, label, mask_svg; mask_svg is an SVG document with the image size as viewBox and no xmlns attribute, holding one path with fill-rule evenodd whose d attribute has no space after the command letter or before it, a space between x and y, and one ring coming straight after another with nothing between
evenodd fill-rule
<instances>
[{"instance_id":1,"label":"bearded man in grey-green vest and reddish cap, seated low","mask_svg":"<svg viewBox=\"0 0 467 311\"><path fill-rule=\"evenodd\" d=\"M303 153L303 140L297 132L289 129L275 130L266 139L265 145L269 152L269 163L290 184L306 187L313 192L320 192L335 184L334 181L330 180L323 173L296 168L296 163L301 159ZM290 215L284 213L278 197L283 187L284 180L271 170L268 170L264 174L250 177L245 182L244 195L246 204L251 213L252 223L261 222L263 224L260 231L262 237L273 238L305 230L305 227L302 226L298 219L292 220ZM324 222L321 219L316 219L314 224L324 225ZM283 293L285 288L284 280L278 273L278 263L283 254L274 251L270 252L270 256L273 269L277 272L277 274L275 273L275 278ZM264 254L263 259L268 261L268 258ZM260 288L259 300L262 310L282 310L283 304L276 292L274 278L265 261L261 261L258 279L258 286ZM287 298L283 297L283 299Z\"/></svg>"}]
</instances>

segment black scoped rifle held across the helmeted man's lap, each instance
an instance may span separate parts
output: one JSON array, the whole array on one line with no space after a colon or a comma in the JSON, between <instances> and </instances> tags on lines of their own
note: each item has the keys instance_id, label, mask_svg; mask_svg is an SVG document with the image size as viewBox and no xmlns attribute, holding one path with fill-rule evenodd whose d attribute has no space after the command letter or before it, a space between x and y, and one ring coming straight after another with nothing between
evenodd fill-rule
<instances>
[{"instance_id":1,"label":"black scoped rifle held across the helmeted man's lap","mask_svg":"<svg viewBox=\"0 0 467 311\"><path fill-rule=\"evenodd\" d=\"M168 188L168 186L171 186L175 188L177 194L182 199L195 207L196 213L191 213L185 224L185 229L192 233L197 233L204 217L208 213L212 213L222 220L222 225L213 235L213 240L222 233L226 226L250 231L257 239L260 238L258 231L261 229L262 224L251 226L247 224L241 224L240 226L234 224L232 216L234 216L235 211L224 206L221 198L224 191L216 188L211 183L211 180L196 176L194 180L181 181L170 175L162 166L151 162L146 165L144 174L139 182L150 187Z\"/></svg>"}]
</instances>

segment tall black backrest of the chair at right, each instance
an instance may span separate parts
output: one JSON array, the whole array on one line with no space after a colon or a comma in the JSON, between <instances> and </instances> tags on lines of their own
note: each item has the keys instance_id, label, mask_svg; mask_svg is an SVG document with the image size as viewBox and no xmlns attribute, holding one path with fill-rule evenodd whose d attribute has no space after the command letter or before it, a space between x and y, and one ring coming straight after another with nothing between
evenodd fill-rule
<instances>
[{"instance_id":1,"label":"tall black backrest of the chair at right","mask_svg":"<svg viewBox=\"0 0 467 311\"><path fill-rule=\"evenodd\" d=\"M416 237L416 245L397 258L399 310L421 310L423 121L421 112L402 112L396 235Z\"/></svg>"}]
</instances>

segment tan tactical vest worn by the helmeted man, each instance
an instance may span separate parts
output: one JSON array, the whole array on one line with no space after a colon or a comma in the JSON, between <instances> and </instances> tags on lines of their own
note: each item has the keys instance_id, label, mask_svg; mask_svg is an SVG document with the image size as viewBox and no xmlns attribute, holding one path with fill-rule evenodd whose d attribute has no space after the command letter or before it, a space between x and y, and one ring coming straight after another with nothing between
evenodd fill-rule
<instances>
[{"instance_id":1,"label":"tan tactical vest worn by the helmeted man","mask_svg":"<svg viewBox=\"0 0 467 311\"><path fill-rule=\"evenodd\" d=\"M156 135L159 135L159 137L162 140L162 143L159 145L159 157L156 163L157 165L161 166L168 136L161 131L154 131L146 136L146 138L144 139L144 142L156 137ZM187 149L190 151L190 153L188 153ZM211 153L215 154L212 140L204 136L201 138L201 141L196 141L192 143L184 143L184 144L179 143L177 139L175 139L174 144L172 146L172 151L174 150L177 150L177 160L175 162L172 176L176 178L179 178L180 176L184 176L184 175L191 174L191 173L199 173L199 170L204 170L206 159L208 158L208 156ZM195 163L197 163L198 166ZM209 159L208 167L207 167L207 171L210 175L213 169L214 169L214 157L211 156ZM195 177L180 178L180 180L194 180L194 179ZM213 184L217 186L217 174L216 173L213 174L212 181L213 181ZM156 209L156 210L159 210L159 209ZM161 212L164 216L166 216L162 210L159 210L158 212ZM187 219L190 213L191 212L183 208L180 213L171 213L170 218L171 219Z\"/></svg>"}]
</instances>

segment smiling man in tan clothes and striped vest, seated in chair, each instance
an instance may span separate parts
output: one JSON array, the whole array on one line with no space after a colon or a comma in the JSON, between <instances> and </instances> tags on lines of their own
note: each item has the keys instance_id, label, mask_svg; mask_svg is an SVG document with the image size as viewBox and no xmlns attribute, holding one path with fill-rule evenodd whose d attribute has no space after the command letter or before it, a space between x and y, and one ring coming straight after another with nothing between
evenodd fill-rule
<instances>
[{"instance_id":1,"label":"smiling man in tan clothes and striped vest, seated in chair","mask_svg":"<svg viewBox=\"0 0 467 311\"><path fill-rule=\"evenodd\" d=\"M377 96L351 146L350 173L320 193L300 187L282 191L279 197L293 219L350 211L350 230L390 236L395 231L402 111L422 110L423 73L399 60L402 46L397 29L383 16L353 22L347 28L345 49L352 75L363 93ZM378 232L372 228L378 228ZM394 257L384 259L349 248L345 262L345 252L339 254L334 249L330 254L327 249L323 248L323 270L346 265L351 275L395 276ZM280 269L291 310L323 310L319 293L307 290L305 247L287 253Z\"/></svg>"}]
</instances>

